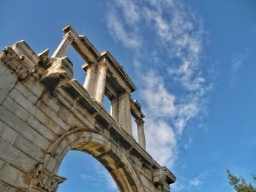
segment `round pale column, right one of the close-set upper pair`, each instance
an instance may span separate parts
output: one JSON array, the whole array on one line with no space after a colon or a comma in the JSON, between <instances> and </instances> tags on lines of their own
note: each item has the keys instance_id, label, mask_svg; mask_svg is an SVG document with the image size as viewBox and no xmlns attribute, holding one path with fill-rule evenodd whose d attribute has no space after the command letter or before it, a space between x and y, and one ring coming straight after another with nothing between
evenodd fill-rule
<instances>
[{"instance_id":1,"label":"round pale column, right one of the close-set upper pair","mask_svg":"<svg viewBox=\"0 0 256 192\"><path fill-rule=\"evenodd\" d=\"M102 61L99 64L99 69L97 72L97 86L96 86L96 94L95 99L99 101L99 103L103 104L105 86L106 86L106 78L107 78L108 66L105 61Z\"/></svg>"}]
</instances>

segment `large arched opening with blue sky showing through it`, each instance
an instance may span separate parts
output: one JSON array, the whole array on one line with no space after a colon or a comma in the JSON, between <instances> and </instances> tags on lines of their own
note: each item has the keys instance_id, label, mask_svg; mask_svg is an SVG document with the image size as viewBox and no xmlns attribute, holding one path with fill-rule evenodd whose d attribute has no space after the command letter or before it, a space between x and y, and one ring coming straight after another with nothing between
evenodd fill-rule
<instances>
[{"instance_id":1,"label":"large arched opening with blue sky showing through it","mask_svg":"<svg viewBox=\"0 0 256 192\"><path fill-rule=\"evenodd\" d=\"M57 192L105 191L117 192L118 188L108 170L89 154L70 150L59 167L58 174L67 180Z\"/></svg>"}]
</instances>

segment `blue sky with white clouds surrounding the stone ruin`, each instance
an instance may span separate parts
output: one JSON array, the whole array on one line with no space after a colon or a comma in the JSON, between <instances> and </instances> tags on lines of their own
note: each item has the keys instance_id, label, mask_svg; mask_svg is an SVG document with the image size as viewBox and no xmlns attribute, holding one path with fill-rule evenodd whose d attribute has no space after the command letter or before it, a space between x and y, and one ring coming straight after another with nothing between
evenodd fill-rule
<instances>
[{"instance_id":1,"label":"blue sky with white clouds surrounding the stone ruin","mask_svg":"<svg viewBox=\"0 0 256 192\"><path fill-rule=\"evenodd\" d=\"M256 174L255 9L253 0L3 1L0 47L24 39L53 53L70 23L137 85L148 153L176 174L173 191L233 191L226 167ZM68 56L83 83L83 60ZM59 175L60 192L116 191L85 153L68 153Z\"/></svg>"}]
</instances>

